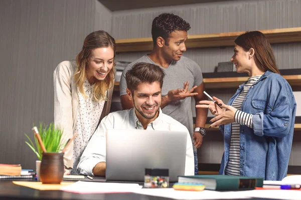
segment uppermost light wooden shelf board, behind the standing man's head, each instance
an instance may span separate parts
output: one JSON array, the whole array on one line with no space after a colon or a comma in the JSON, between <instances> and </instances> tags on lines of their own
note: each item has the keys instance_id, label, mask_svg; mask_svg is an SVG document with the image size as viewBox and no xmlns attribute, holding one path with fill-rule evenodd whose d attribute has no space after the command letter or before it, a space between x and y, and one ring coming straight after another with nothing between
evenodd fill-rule
<instances>
[{"instance_id":1,"label":"uppermost light wooden shelf board, behind the standing man's head","mask_svg":"<svg viewBox=\"0 0 301 200\"><path fill-rule=\"evenodd\" d=\"M260 30L270 43L301 41L301 27ZM187 48L234 46L234 40L245 31L221 32L212 34L188 35ZM116 39L117 52L150 51L153 49L152 37Z\"/></svg>"}]
</instances>

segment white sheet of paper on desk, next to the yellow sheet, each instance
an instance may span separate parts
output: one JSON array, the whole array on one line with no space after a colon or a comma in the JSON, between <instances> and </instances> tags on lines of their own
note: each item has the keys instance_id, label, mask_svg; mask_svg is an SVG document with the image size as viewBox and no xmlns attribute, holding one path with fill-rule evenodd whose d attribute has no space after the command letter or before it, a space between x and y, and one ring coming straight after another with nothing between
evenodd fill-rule
<instances>
[{"instance_id":1,"label":"white sheet of paper on desk, next to the yellow sheet","mask_svg":"<svg viewBox=\"0 0 301 200\"><path fill-rule=\"evenodd\" d=\"M62 187L61 190L73 193L125 193L140 190L142 186L136 183L86 182L77 181Z\"/></svg>"}]
</instances>

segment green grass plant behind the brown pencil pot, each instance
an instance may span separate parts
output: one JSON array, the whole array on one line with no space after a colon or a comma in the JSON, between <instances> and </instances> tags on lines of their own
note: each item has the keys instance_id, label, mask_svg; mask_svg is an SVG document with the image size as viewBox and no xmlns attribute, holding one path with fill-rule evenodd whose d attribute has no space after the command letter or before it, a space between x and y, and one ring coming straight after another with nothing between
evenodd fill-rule
<instances>
[{"instance_id":1,"label":"green grass plant behind the brown pencil pot","mask_svg":"<svg viewBox=\"0 0 301 200\"><path fill-rule=\"evenodd\" d=\"M40 123L38 130L47 152L59 152L62 150L64 145L61 144L61 138L63 135L63 130L61 128L55 127L54 123L50 123L49 125L43 125L43 123ZM25 134L25 136L29 140L29 142L25 141L25 143L27 143L27 145L35 152L38 159L42 160L43 151L38 139L34 136L34 143L27 134Z\"/></svg>"}]
</instances>

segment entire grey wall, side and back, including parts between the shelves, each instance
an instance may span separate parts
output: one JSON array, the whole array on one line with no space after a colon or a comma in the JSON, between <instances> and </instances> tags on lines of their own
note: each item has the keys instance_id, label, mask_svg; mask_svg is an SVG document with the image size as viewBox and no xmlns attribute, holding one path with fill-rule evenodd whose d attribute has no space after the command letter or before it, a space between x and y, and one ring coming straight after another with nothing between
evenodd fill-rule
<instances>
[{"instance_id":1,"label":"entire grey wall, side and back, including parts between the shelves","mask_svg":"<svg viewBox=\"0 0 301 200\"><path fill-rule=\"evenodd\" d=\"M32 134L33 123L53 121L53 70L60 61L75 58L88 33L103 29L116 39L149 37L153 18L166 11L189 21L189 34L299 27L300 10L301 0L225 1L118 12L97 0L0 0L0 163L35 167L36 157L25 144L24 133ZM301 43L273 48L279 68L300 68ZM119 53L116 58L134 60L144 53ZM212 72L231 55L231 47L186 52L204 72ZM227 101L233 91L212 94ZM219 132L208 134L199 161L219 163L222 139ZM301 165L300 141L294 139L290 164Z\"/></svg>"}]
</instances>

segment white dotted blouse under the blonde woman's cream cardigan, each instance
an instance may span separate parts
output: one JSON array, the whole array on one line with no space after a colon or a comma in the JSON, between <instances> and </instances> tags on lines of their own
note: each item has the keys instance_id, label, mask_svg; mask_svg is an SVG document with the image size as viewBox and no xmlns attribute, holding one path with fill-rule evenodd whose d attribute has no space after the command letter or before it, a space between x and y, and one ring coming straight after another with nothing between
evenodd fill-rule
<instances>
[{"instance_id":1,"label":"white dotted blouse under the blonde woman's cream cardigan","mask_svg":"<svg viewBox=\"0 0 301 200\"><path fill-rule=\"evenodd\" d=\"M73 169L71 174L78 174L76 170L77 164L80 160L80 157L87 146L92 134L97 128L100 115L104 106L104 100L96 101L93 96L94 84L91 85L87 78L83 84L84 91L87 97L79 91L78 93L78 110L77 110L77 122L74 127L74 133L77 133L74 138L73 145Z\"/></svg>"}]
</instances>

